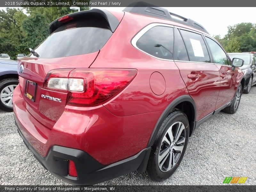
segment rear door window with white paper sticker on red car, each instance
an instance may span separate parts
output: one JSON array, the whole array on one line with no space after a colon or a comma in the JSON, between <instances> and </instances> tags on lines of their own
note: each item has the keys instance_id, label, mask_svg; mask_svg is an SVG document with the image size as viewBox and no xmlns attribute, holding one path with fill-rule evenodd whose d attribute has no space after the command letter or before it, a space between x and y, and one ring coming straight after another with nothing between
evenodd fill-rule
<instances>
[{"instance_id":1,"label":"rear door window with white paper sticker on red car","mask_svg":"<svg viewBox=\"0 0 256 192\"><path fill-rule=\"evenodd\" d=\"M180 30L190 61L210 63L210 57L203 37L197 33Z\"/></svg>"}]
</instances>

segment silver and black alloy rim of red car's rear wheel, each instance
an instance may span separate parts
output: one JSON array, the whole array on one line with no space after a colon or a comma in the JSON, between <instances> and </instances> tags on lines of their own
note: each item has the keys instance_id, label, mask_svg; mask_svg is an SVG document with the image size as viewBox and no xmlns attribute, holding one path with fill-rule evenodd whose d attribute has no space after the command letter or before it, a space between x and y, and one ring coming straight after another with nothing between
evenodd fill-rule
<instances>
[{"instance_id":1,"label":"silver and black alloy rim of red car's rear wheel","mask_svg":"<svg viewBox=\"0 0 256 192\"><path fill-rule=\"evenodd\" d=\"M158 166L167 172L177 163L184 148L186 138L185 126L181 122L172 124L161 142L158 154Z\"/></svg>"}]
</instances>

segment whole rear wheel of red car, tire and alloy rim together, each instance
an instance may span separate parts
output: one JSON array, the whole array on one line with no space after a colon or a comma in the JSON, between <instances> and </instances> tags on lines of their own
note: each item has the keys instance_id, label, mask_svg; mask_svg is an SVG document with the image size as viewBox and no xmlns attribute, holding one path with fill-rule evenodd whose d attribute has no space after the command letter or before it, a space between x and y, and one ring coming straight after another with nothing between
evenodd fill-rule
<instances>
[{"instance_id":1,"label":"whole rear wheel of red car, tire and alloy rim together","mask_svg":"<svg viewBox=\"0 0 256 192\"><path fill-rule=\"evenodd\" d=\"M180 136L177 136L177 132ZM176 171L185 154L188 135L188 117L181 110L173 109L164 119L148 159L146 173L150 179L163 181Z\"/></svg>"}]
</instances>

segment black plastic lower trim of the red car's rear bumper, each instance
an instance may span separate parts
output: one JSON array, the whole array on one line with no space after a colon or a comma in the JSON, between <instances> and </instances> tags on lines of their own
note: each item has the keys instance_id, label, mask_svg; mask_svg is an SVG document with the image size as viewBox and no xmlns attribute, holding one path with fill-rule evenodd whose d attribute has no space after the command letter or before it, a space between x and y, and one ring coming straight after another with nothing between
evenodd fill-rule
<instances>
[{"instance_id":1,"label":"black plastic lower trim of the red car's rear bumper","mask_svg":"<svg viewBox=\"0 0 256 192\"><path fill-rule=\"evenodd\" d=\"M48 155L43 157L29 144L20 132L19 127L18 132L25 145L45 169L51 172L55 177L73 185L94 185L136 171L139 167L145 167L145 161L147 162L148 154L151 151L151 148L145 148L135 156L110 165L100 164L92 156L82 150L61 146L52 146ZM77 177L68 175L67 160L74 161Z\"/></svg>"}]
</instances>

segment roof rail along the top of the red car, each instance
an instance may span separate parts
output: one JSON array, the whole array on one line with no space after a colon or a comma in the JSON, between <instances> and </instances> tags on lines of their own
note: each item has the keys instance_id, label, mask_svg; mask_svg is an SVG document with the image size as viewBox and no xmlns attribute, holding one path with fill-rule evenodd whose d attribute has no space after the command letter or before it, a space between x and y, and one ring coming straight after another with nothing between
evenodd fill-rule
<instances>
[{"instance_id":1,"label":"roof rail along the top of the red car","mask_svg":"<svg viewBox=\"0 0 256 192\"><path fill-rule=\"evenodd\" d=\"M129 5L129 7L124 8L124 11L171 20L171 21L187 25L189 27L195 28L197 30L200 30L209 34L208 31L196 21L192 19L187 19L175 13L171 13L167 9L164 9L162 7L156 7L155 5L148 4L145 2L132 3Z\"/></svg>"}]
</instances>

